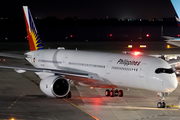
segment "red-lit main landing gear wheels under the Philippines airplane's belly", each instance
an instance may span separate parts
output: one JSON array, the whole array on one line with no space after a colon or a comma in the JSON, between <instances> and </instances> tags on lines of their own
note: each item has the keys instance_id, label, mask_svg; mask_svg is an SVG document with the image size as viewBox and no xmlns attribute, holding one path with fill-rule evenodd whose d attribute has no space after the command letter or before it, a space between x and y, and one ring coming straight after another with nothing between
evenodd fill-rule
<instances>
[{"instance_id":1,"label":"red-lit main landing gear wheels under the Philippines airplane's belly","mask_svg":"<svg viewBox=\"0 0 180 120\"><path fill-rule=\"evenodd\" d=\"M118 89L112 89L111 91L109 89L107 89L105 91L105 95L106 96L119 96L119 97L123 97L123 90L118 90Z\"/></svg>"}]
</instances>

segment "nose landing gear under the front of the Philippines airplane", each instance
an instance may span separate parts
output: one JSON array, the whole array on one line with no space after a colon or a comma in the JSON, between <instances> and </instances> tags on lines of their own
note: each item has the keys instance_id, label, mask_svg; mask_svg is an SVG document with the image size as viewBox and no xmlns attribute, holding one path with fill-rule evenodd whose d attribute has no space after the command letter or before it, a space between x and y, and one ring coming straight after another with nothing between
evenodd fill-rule
<instances>
[{"instance_id":1,"label":"nose landing gear under the front of the Philippines airplane","mask_svg":"<svg viewBox=\"0 0 180 120\"><path fill-rule=\"evenodd\" d=\"M165 97L169 95L169 93L157 93L158 97L160 97L159 102L157 103L157 107L158 108L165 108L166 107L166 103L165 103Z\"/></svg>"}]
</instances>

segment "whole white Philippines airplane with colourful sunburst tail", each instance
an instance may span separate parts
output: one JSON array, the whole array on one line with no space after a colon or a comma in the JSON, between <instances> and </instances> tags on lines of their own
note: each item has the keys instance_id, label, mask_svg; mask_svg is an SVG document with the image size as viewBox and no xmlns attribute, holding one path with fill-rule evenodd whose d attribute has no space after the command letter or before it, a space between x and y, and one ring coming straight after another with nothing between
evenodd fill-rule
<instances>
[{"instance_id":1,"label":"whole white Philippines airplane with colourful sunburst tail","mask_svg":"<svg viewBox=\"0 0 180 120\"><path fill-rule=\"evenodd\" d=\"M107 88L105 96L123 97L123 90L135 88L157 92L158 108L165 108L165 97L178 85L171 66L164 60L146 55L92 52L66 49L44 49L27 6L23 6L30 51L25 59L34 68L0 66L18 73L35 72L41 91L50 97L71 98L70 80L75 85ZM3 54L0 56L20 58Z\"/></svg>"}]
</instances>

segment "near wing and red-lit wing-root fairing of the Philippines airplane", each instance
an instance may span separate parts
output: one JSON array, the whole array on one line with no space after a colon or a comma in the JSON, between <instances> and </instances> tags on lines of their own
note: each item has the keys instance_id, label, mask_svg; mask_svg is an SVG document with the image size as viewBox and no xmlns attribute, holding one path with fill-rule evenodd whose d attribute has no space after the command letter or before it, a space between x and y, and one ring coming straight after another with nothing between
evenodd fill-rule
<instances>
[{"instance_id":1,"label":"near wing and red-lit wing-root fairing of the Philippines airplane","mask_svg":"<svg viewBox=\"0 0 180 120\"><path fill-rule=\"evenodd\" d=\"M74 80L74 83L76 85L79 85L79 83L83 83L86 85L90 85L92 87L103 87L107 84L112 86L112 84L107 83L107 81L104 81L98 74L81 71L78 69L69 69L67 67L62 67L62 69L45 69L45 68L25 68L25 67L13 67L13 66L0 66L0 68L8 68L8 69L14 69L18 73L23 73L26 71L32 71L32 72L40 72L40 73L52 73L59 76L63 76L67 79Z\"/></svg>"}]
</instances>

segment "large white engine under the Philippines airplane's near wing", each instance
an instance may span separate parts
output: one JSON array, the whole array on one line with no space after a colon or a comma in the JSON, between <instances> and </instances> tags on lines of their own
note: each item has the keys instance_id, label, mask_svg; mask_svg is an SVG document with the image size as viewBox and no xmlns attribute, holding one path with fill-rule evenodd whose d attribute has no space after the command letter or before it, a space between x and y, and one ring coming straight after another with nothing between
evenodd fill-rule
<instances>
[{"instance_id":1,"label":"large white engine under the Philippines airplane's near wing","mask_svg":"<svg viewBox=\"0 0 180 120\"><path fill-rule=\"evenodd\" d=\"M52 75L41 80L40 89L50 97L64 97L70 91L70 84L65 78Z\"/></svg>"}]
</instances>

